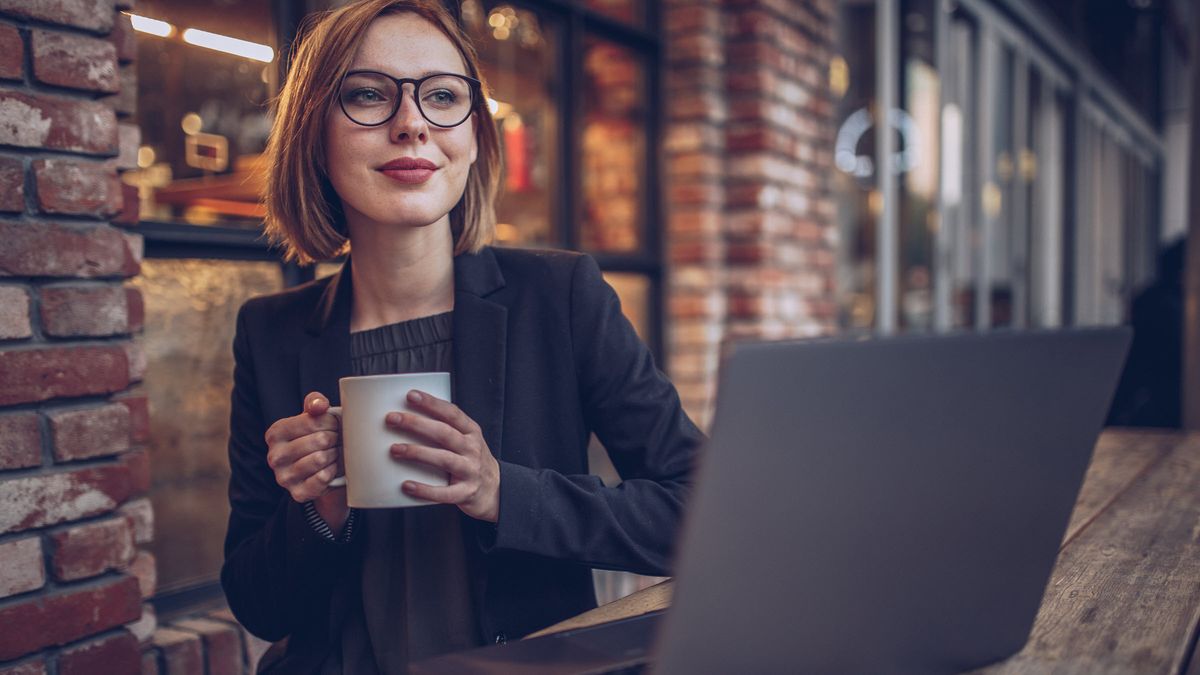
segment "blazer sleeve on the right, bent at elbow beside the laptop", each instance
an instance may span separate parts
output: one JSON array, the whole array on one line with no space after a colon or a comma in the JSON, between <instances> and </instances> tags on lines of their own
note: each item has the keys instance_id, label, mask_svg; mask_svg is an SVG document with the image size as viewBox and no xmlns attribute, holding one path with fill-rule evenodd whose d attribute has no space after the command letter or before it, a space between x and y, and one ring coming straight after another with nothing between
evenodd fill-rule
<instances>
[{"instance_id":1,"label":"blazer sleeve on the right, bent at elbow beside the laptop","mask_svg":"<svg viewBox=\"0 0 1200 675\"><path fill-rule=\"evenodd\" d=\"M622 483L502 461L496 546L667 575L704 436L589 256L576 261L570 304L584 419Z\"/></svg>"}]
</instances>

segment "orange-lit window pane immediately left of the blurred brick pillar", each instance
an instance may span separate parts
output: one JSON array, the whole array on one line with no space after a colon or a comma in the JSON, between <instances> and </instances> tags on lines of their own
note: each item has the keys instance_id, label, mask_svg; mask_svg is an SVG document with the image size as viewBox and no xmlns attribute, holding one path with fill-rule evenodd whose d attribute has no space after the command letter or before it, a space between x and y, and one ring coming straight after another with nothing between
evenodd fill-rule
<instances>
[{"instance_id":1,"label":"orange-lit window pane immediately left of the blurred brick pillar","mask_svg":"<svg viewBox=\"0 0 1200 675\"><path fill-rule=\"evenodd\" d=\"M581 243L587 250L632 252L642 245L644 77L625 47L584 41Z\"/></svg>"}]
</instances>

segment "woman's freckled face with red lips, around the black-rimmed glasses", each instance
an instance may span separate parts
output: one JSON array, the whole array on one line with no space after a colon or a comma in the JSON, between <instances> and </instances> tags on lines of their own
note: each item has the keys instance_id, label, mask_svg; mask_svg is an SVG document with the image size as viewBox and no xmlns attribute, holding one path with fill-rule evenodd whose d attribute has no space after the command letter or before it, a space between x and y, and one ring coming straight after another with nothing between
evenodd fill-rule
<instances>
[{"instance_id":1,"label":"woman's freckled face with red lips, around the black-rimmed glasses","mask_svg":"<svg viewBox=\"0 0 1200 675\"><path fill-rule=\"evenodd\" d=\"M431 73L467 74L454 43L432 23L408 12L373 20L349 70L414 79ZM371 100L373 95L361 96ZM386 124L358 125L337 101L326 115L325 167L352 237L366 225L449 223L478 151L474 114L451 129L433 126L416 107L414 85L404 84L400 109ZM427 168L406 169L409 160Z\"/></svg>"}]
</instances>

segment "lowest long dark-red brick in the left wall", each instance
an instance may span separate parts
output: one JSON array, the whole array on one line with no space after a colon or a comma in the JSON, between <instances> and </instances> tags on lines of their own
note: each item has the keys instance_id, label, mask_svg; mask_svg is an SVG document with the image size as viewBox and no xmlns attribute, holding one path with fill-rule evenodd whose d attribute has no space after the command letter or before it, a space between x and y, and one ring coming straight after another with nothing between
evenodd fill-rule
<instances>
[{"instance_id":1,"label":"lowest long dark-red brick in the left wall","mask_svg":"<svg viewBox=\"0 0 1200 675\"><path fill-rule=\"evenodd\" d=\"M138 580L72 587L0 609L0 659L11 659L50 645L65 645L134 621L142 614Z\"/></svg>"}]
</instances>

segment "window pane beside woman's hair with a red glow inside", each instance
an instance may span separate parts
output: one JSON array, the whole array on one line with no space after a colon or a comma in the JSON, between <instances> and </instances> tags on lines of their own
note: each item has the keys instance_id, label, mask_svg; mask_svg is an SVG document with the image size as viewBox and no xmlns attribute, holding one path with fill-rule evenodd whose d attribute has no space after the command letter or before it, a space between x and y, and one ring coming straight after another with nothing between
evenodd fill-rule
<instances>
[{"instance_id":1,"label":"window pane beside woman's hair with a red glow inside","mask_svg":"<svg viewBox=\"0 0 1200 675\"><path fill-rule=\"evenodd\" d=\"M497 241L557 244L557 31L539 12L464 0L462 24L479 52L500 133L504 175L496 205Z\"/></svg>"}]
</instances>

